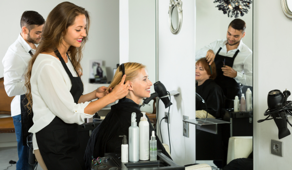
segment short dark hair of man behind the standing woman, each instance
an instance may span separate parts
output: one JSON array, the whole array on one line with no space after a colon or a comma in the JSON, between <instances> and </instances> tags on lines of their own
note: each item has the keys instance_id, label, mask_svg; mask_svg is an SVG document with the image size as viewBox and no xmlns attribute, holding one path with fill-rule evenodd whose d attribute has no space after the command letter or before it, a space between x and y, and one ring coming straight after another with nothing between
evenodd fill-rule
<instances>
[{"instance_id":1,"label":"short dark hair of man behind the standing woman","mask_svg":"<svg viewBox=\"0 0 292 170\"><path fill-rule=\"evenodd\" d=\"M45 23L45 19L36 11L24 11L20 19L20 27L27 27L30 31L35 25L40 26Z\"/></svg>"}]
</instances>

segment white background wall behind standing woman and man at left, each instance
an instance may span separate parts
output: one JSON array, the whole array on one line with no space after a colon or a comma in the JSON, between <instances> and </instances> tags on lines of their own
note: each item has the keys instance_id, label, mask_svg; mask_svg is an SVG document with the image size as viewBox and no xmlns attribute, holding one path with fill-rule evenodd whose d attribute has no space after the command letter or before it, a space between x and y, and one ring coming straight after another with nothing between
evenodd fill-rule
<instances>
[{"instance_id":1,"label":"white background wall behind standing woman and man at left","mask_svg":"<svg viewBox=\"0 0 292 170\"><path fill-rule=\"evenodd\" d=\"M0 60L4 57L8 47L17 39L21 32L20 17L24 11L37 11L45 19L50 11L64 0L1 0L0 7L3 14L0 22L2 41L0 41ZM91 15L89 41L83 52L83 76L85 91L89 82L90 60L103 60L107 67L108 81L112 79L112 68L119 63L119 0L69 0L84 7ZM0 64L0 77L3 77L3 66Z\"/></svg>"}]
</instances>

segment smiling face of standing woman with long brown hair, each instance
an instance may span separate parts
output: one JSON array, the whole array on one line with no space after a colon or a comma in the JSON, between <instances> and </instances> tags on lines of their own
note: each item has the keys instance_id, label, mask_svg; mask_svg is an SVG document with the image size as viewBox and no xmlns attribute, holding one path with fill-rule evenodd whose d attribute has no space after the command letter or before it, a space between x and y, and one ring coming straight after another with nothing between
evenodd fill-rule
<instances>
[{"instance_id":1,"label":"smiling face of standing woman with long brown hair","mask_svg":"<svg viewBox=\"0 0 292 170\"><path fill-rule=\"evenodd\" d=\"M86 36L86 17L85 15L79 15L75 17L74 24L67 28L67 33L64 36L63 44L69 48L80 47L82 38Z\"/></svg>"}]
</instances>

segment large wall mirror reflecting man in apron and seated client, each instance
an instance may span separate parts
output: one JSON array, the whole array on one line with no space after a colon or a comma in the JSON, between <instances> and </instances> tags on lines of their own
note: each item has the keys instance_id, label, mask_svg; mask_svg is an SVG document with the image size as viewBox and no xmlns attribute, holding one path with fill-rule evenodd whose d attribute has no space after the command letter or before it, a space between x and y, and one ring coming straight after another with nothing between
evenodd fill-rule
<instances>
[{"instance_id":1,"label":"large wall mirror reflecting man in apron and seated client","mask_svg":"<svg viewBox=\"0 0 292 170\"><path fill-rule=\"evenodd\" d=\"M242 0L237 0L239 1ZM253 112L248 111L252 109L248 104L252 102L248 88L254 93L253 3L249 4L250 8L247 8L248 11L244 12L244 15L238 15L237 18L236 15L231 17L234 11L231 11L228 17L229 9L227 14L219 11L216 7L219 3L225 1L196 1L196 61L201 60L200 64L196 64L196 93L205 101L203 103L196 98L196 117L205 119L208 113L208 118L228 121L231 125L219 125L218 134L196 130L196 163L223 168L229 163L229 138L253 136ZM240 12L235 11L234 14L237 13ZM212 72L206 56L208 59L211 57L211 61L215 58L211 65ZM234 100L237 96L239 102L242 94L245 107L244 102L240 104L245 111L235 112ZM236 108L238 109L238 106ZM250 154L252 149L248 152Z\"/></svg>"}]
</instances>

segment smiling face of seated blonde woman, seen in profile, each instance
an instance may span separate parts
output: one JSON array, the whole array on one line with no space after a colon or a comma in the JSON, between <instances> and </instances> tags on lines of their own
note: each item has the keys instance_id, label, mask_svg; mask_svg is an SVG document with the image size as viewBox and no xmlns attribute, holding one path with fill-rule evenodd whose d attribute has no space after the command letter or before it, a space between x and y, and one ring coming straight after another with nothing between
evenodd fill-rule
<instances>
[{"instance_id":1,"label":"smiling face of seated blonde woman, seen in profile","mask_svg":"<svg viewBox=\"0 0 292 170\"><path fill-rule=\"evenodd\" d=\"M135 97L137 100L150 97L151 81L148 79L148 72L142 68L137 77L130 82L131 98ZM134 101L134 100L133 100ZM135 102L135 101L134 101Z\"/></svg>"}]
</instances>

